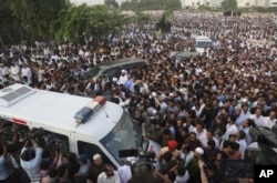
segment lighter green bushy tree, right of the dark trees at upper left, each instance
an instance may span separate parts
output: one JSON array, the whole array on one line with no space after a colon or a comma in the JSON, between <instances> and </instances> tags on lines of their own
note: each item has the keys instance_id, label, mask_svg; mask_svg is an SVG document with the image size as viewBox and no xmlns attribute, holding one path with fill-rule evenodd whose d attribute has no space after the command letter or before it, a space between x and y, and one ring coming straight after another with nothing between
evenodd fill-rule
<instances>
[{"instance_id":1,"label":"lighter green bushy tree, right of the dark trees at upper left","mask_svg":"<svg viewBox=\"0 0 277 183\"><path fill-rule=\"evenodd\" d=\"M101 39L109 32L119 31L125 19L119 11L109 10L106 6L88 7L85 3L79 7L70 7L60 14L60 22L63 22L55 33L59 41L69 40L78 42L82 37Z\"/></svg>"}]
</instances>

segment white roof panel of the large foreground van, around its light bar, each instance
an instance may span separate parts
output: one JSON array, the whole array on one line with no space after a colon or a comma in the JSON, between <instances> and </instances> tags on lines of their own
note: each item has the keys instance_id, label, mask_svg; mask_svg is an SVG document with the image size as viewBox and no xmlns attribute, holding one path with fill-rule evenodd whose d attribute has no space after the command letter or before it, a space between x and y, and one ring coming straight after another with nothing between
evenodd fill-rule
<instances>
[{"instance_id":1,"label":"white roof panel of the large foreground van, around its light bar","mask_svg":"<svg viewBox=\"0 0 277 183\"><path fill-rule=\"evenodd\" d=\"M9 88L17 87L25 85L13 84ZM10 106L0 105L0 119L17 119L32 126L65 130L89 135L99 141L116 125L123 113L120 105L106 102L84 124L78 125L74 114L93 99L29 89L34 92ZM0 90L1 93L3 93L2 90Z\"/></svg>"}]
</instances>

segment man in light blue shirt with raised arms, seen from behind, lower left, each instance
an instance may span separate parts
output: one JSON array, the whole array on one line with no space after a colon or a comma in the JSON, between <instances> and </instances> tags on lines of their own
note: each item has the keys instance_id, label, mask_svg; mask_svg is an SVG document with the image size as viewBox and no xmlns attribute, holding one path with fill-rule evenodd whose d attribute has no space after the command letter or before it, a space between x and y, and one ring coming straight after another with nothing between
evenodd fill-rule
<instances>
[{"instance_id":1,"label":"man in light blue shirt with raised arms, seen from behind, lower left","mask_svg":"<svg viewBox=\"0 0 277 183\"><path fill-rule=\"evenodd\" d=\"M31 144L30 144L31 143ZM40 163L42 160L42 148L34 140L27 140L20 154L20 164L30 177L31 183L40 182Z\"/></svg>"}]
</instances>

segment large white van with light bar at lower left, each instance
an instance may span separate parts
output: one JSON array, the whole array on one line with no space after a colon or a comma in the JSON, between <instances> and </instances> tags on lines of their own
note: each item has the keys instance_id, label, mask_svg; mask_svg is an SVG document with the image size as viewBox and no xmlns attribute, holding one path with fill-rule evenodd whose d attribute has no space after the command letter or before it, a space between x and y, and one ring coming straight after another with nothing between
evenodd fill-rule
<instances>
[{"instance_id":1,"label":"large white van with light bar at lower left","mask_svg":"<svg viewBox=\"0 0 277 183\"><path fill-rule=\"evenodd\" d=\"M64 152L88 157L100 153L116 167L122 165L120 150L142 145L140 130L127 113L103 96L90 99L13 84L0 90L0 121L42 128L45 136L59 139ZM146 143L147 151L160 151L154 141Z\"/></svg>"}]
</instances>

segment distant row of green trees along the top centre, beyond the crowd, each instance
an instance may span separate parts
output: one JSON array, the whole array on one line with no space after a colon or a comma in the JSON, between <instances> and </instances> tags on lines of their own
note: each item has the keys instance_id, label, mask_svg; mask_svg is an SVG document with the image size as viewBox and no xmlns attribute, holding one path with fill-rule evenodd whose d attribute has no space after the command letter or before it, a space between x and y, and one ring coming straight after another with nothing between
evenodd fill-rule
<instances>
[{"instance_id":1,"label":"distant row of green trees along the top centre, beyond the crowd","mask_svg":"<svg viewBox=\"0 0 277 183\"><path fill-rule=\"evenodd\" d=\"M181 0L130 0L122 2L123 10L178 10L182 8Z\"/></svg>"}]
</instances>

